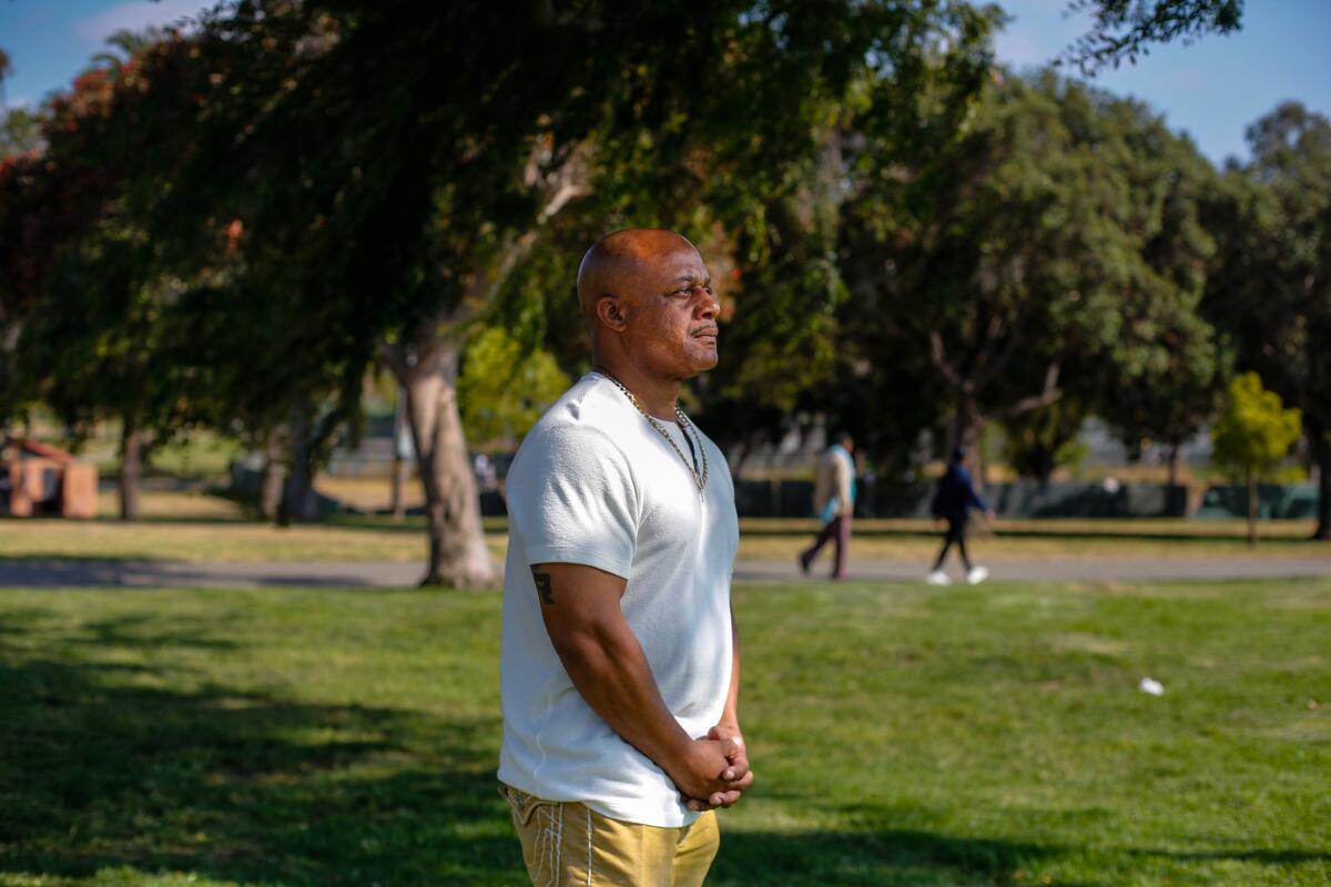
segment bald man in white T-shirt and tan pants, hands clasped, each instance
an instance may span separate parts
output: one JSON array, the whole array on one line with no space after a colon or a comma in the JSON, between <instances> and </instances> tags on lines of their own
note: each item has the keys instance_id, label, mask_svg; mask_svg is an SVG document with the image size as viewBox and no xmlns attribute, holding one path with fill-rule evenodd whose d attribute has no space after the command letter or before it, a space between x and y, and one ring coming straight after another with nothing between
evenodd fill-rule
<instances>
[{"instance_id":1,"label":"bald man in white T-shirt and tan pants, hands clasped","mask_svg":"<svg viewBox=\"0 0 1331 887\"><path fill-rule=\"evenodd\" d=\"M534 884L701 884L715 809L753 781L740 734L725 459L677 406L716 366L703 258L602 238L578 271L592 371L508 471L499 762Z\"/></svg>"}]
</instances>

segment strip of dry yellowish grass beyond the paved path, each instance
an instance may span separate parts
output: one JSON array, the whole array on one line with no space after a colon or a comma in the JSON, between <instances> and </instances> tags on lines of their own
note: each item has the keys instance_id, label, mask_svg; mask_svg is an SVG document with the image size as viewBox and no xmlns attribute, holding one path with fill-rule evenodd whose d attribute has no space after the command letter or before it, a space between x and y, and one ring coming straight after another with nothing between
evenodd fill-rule
<instances>
[{"instance_id":1,"label":"strip of dry yellowish grass beyond the paved path","mask_svg":"<svg viewBox=\"0 0 1331 887\"><path fill-rule=\"evenodd\" d=\"M425 519L333 519L321 525L276 528L249 520L225 499L194 492L145 492L144 520L114 519L114 493L104 492L96 521L0 520L0 559L75 557L218 561L417 561L426 555ZM504 519L486 519L490 551L502 557ZM813 520L745 519L740 559L793 561L817 529ZM997 536L977 533L972 547L986 563L1078 557L1331 557L1310 543L1311 521L1268 521L1256 549L1242 521L1028 520L998 521ZM861 520L852 560L925 565L938 535L926 520Z\"/></svg>"}]
</instances>

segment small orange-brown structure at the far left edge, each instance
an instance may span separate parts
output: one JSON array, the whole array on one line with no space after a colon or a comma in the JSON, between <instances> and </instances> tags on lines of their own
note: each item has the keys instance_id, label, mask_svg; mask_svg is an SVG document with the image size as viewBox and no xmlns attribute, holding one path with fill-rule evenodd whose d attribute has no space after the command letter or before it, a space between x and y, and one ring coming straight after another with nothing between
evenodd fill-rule
<instances>
[{"instance_id":1,"label":"small orange-brown structure at the far left edge","mask_svg":"<svg viewBox=\"0 0 1331 887\"><path fill-rule=\"evenodd\" d=\"M97 516L97 468L24 438L0 447L0 515Z\"/></svg>"}]
</instances>

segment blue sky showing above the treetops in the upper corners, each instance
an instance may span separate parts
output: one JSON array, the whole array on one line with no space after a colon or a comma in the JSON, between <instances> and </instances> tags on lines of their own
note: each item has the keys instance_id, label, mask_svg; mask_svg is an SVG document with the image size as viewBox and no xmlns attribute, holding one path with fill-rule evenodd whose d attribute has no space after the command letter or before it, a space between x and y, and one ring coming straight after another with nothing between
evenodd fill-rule
<instances>
[{"instance_id":1,"label":"blue sky showing above the treetops in the upper corners","mask_svg":"<svg viewBox=\"0 0 1331 887\"><path fill-rule=\"evenodd\" d=\"M1067 0L998 0L1013 21L998 57L1017 69L1049 61L1087 29ZM204 0L0 0L0 47L13 61L9 104L37 104L83 69L117 28L168 24ZM1097 85L1146 101L1215 162L1244 157L1243 129L1284 100L1331 116L1331 0L1247 0L1243 29L1194 45L1157 47Z\"/></svg>"}]
</instances>

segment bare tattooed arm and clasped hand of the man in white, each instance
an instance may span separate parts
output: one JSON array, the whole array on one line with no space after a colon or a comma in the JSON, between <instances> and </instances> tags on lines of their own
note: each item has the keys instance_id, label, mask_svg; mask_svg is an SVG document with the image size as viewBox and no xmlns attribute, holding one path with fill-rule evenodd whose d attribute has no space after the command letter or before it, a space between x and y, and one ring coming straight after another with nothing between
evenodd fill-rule
<instances>
[{"instance_id":1,"label":"bare tattooed arm and clasped hand of the man in white","mask_svg":"<svg viewBox=\"0 0 1331 887\"><path fill-rule=\"evenodd\" d=\"M626 581L582 564L536 564L531 574L555 653L587 705L684 795L733 803L753 777L733 771L720 741L689 737L666 706L620 609Z\"/></svg>"}]
</instances>

